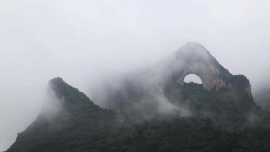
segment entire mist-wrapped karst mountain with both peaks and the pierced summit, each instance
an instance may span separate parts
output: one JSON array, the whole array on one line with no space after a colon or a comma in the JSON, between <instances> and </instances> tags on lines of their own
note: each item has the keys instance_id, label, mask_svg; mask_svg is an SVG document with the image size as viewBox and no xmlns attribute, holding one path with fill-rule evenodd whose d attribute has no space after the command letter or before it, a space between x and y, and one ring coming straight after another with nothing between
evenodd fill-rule
<instances>
[{"instance_id":1,"label":"entire mist-wrapped karst mountain with both peaks and the pierced summit","mask_svg":"<svg viewBox=\"0 0 270 152\"><path fill-rule=\"evenodd\" d=\"M185 83L196 74L202 84ZM104 107L60 77L36 119L6 152L270 151L270 114L244 75L187 42L156 64L107 85Z\"/></svg>"}]
</instances>

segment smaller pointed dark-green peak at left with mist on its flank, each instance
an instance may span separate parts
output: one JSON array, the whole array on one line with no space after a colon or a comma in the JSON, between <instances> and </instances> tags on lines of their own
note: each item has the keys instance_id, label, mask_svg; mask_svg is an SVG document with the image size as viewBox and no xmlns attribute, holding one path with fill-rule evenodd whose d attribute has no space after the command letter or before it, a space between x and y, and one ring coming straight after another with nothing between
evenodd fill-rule
<instances>
[{"instance_id":1,"label":"smaller pointed dark-green peak at left with mist on its flank","mask_svg":"<svg viewBox=\"0 0 270 152\"><path fill-rule=\"evenodd\" d=\"M48 107L44 107L36 120L18 133L7 152L70 151L86 142L97 129L108 129L114 125L112 111L101 109L60 77L49 81L48 92L49 95L55 94L56 103L50 102Z\"/></svg>"}]
</instances>

